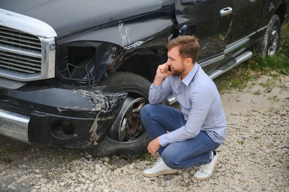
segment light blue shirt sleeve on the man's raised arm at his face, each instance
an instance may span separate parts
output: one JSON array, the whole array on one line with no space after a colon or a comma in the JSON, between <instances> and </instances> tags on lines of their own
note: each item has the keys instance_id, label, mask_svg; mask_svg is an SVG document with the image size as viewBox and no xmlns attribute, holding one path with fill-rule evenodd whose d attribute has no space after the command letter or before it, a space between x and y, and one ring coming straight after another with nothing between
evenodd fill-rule
<instances>
[{"instance_id":1,"label":"light blue shirt sleeve on the man's raised arm at his face","mask_svg":"<svg viewBox=\"0 0 289 192\"><path fill-rule=\"evenodd\" d=\"M154 82L153 82L154 83ZM151 84L149 88L149 103L158 104L162 102L169 94L172 93L169 77L164 79L162 84L155 86Z\"/></svg>"}]
</instances>

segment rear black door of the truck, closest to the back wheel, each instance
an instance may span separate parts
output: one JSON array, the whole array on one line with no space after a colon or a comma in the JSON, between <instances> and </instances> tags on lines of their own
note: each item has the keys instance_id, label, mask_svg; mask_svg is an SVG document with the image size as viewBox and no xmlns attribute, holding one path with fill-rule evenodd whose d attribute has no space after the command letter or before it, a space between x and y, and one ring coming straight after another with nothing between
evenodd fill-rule
<instances>
[{"instance_id":1,"label":"rear black door of the truck, closest to the back wheel","mask_svg":"<svg viewBox=\"0 0 289 192\"><path fill-rule=\"evenodd\" d=\"M244 52L255 40L262 14L263 0L231 0L233 18L227 36L225 62ZM266 30L262 26L259 30Z\"/></svg>"}]
</instances>

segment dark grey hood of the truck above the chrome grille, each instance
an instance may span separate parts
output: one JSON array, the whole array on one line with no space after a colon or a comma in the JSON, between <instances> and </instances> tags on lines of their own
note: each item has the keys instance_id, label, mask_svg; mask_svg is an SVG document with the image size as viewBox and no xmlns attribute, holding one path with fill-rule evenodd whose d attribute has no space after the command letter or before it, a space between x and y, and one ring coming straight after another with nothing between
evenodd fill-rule
<instances>
[{"instance_id":1,"label":"dark grey hood of the truck above the chrome grille","mask_svg":"<svg viewBox=\"0 0 289 192\"><path fill-rule=\"evenodd\" d=\"M84 29L153 12L162 0L1 0L0 8L49 24L60 38ZM1 20L1 18L0 18Z\"/></svg>"}]
</instances>

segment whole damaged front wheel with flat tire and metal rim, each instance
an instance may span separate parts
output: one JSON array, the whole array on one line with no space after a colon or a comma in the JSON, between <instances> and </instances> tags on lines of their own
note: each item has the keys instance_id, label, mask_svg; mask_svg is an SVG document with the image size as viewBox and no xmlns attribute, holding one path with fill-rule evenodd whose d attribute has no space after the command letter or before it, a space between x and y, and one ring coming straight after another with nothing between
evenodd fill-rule
<instances>
[{"instance_id":1,"label":"whole damaged front wheel with flat tire and metal rim","mask_svg":"<svg viewBox=\"0 0 289 192\"><path fill-rule=\"evenodd\" d=\"M134 73L116 72L99 85L106 85L105 92L127 92L128 96L108 134L90 150L91 154L100 157L123 152L136 157L150 142L140 120L140 109L148 103L151 82Z\"/></svg>"}]
</instances>

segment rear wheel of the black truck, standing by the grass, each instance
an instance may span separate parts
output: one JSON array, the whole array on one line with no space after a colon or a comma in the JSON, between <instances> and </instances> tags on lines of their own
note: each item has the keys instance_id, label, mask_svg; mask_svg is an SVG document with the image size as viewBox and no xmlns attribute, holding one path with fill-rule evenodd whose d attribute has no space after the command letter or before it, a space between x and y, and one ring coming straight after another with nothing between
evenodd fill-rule
<instances>
[{"instance_id":1,"label":"rear wheel of the black truck, standing by the grass","mask_svg":"<svg viewBox=\"0 0 289 192\"><path fill-rule=\"evenodd\" d=\"M277 53L281 33L281 23L278 15L273 15L269 21L263 38L261 53L265 58Z\"/></svg>"}]
</instances>

